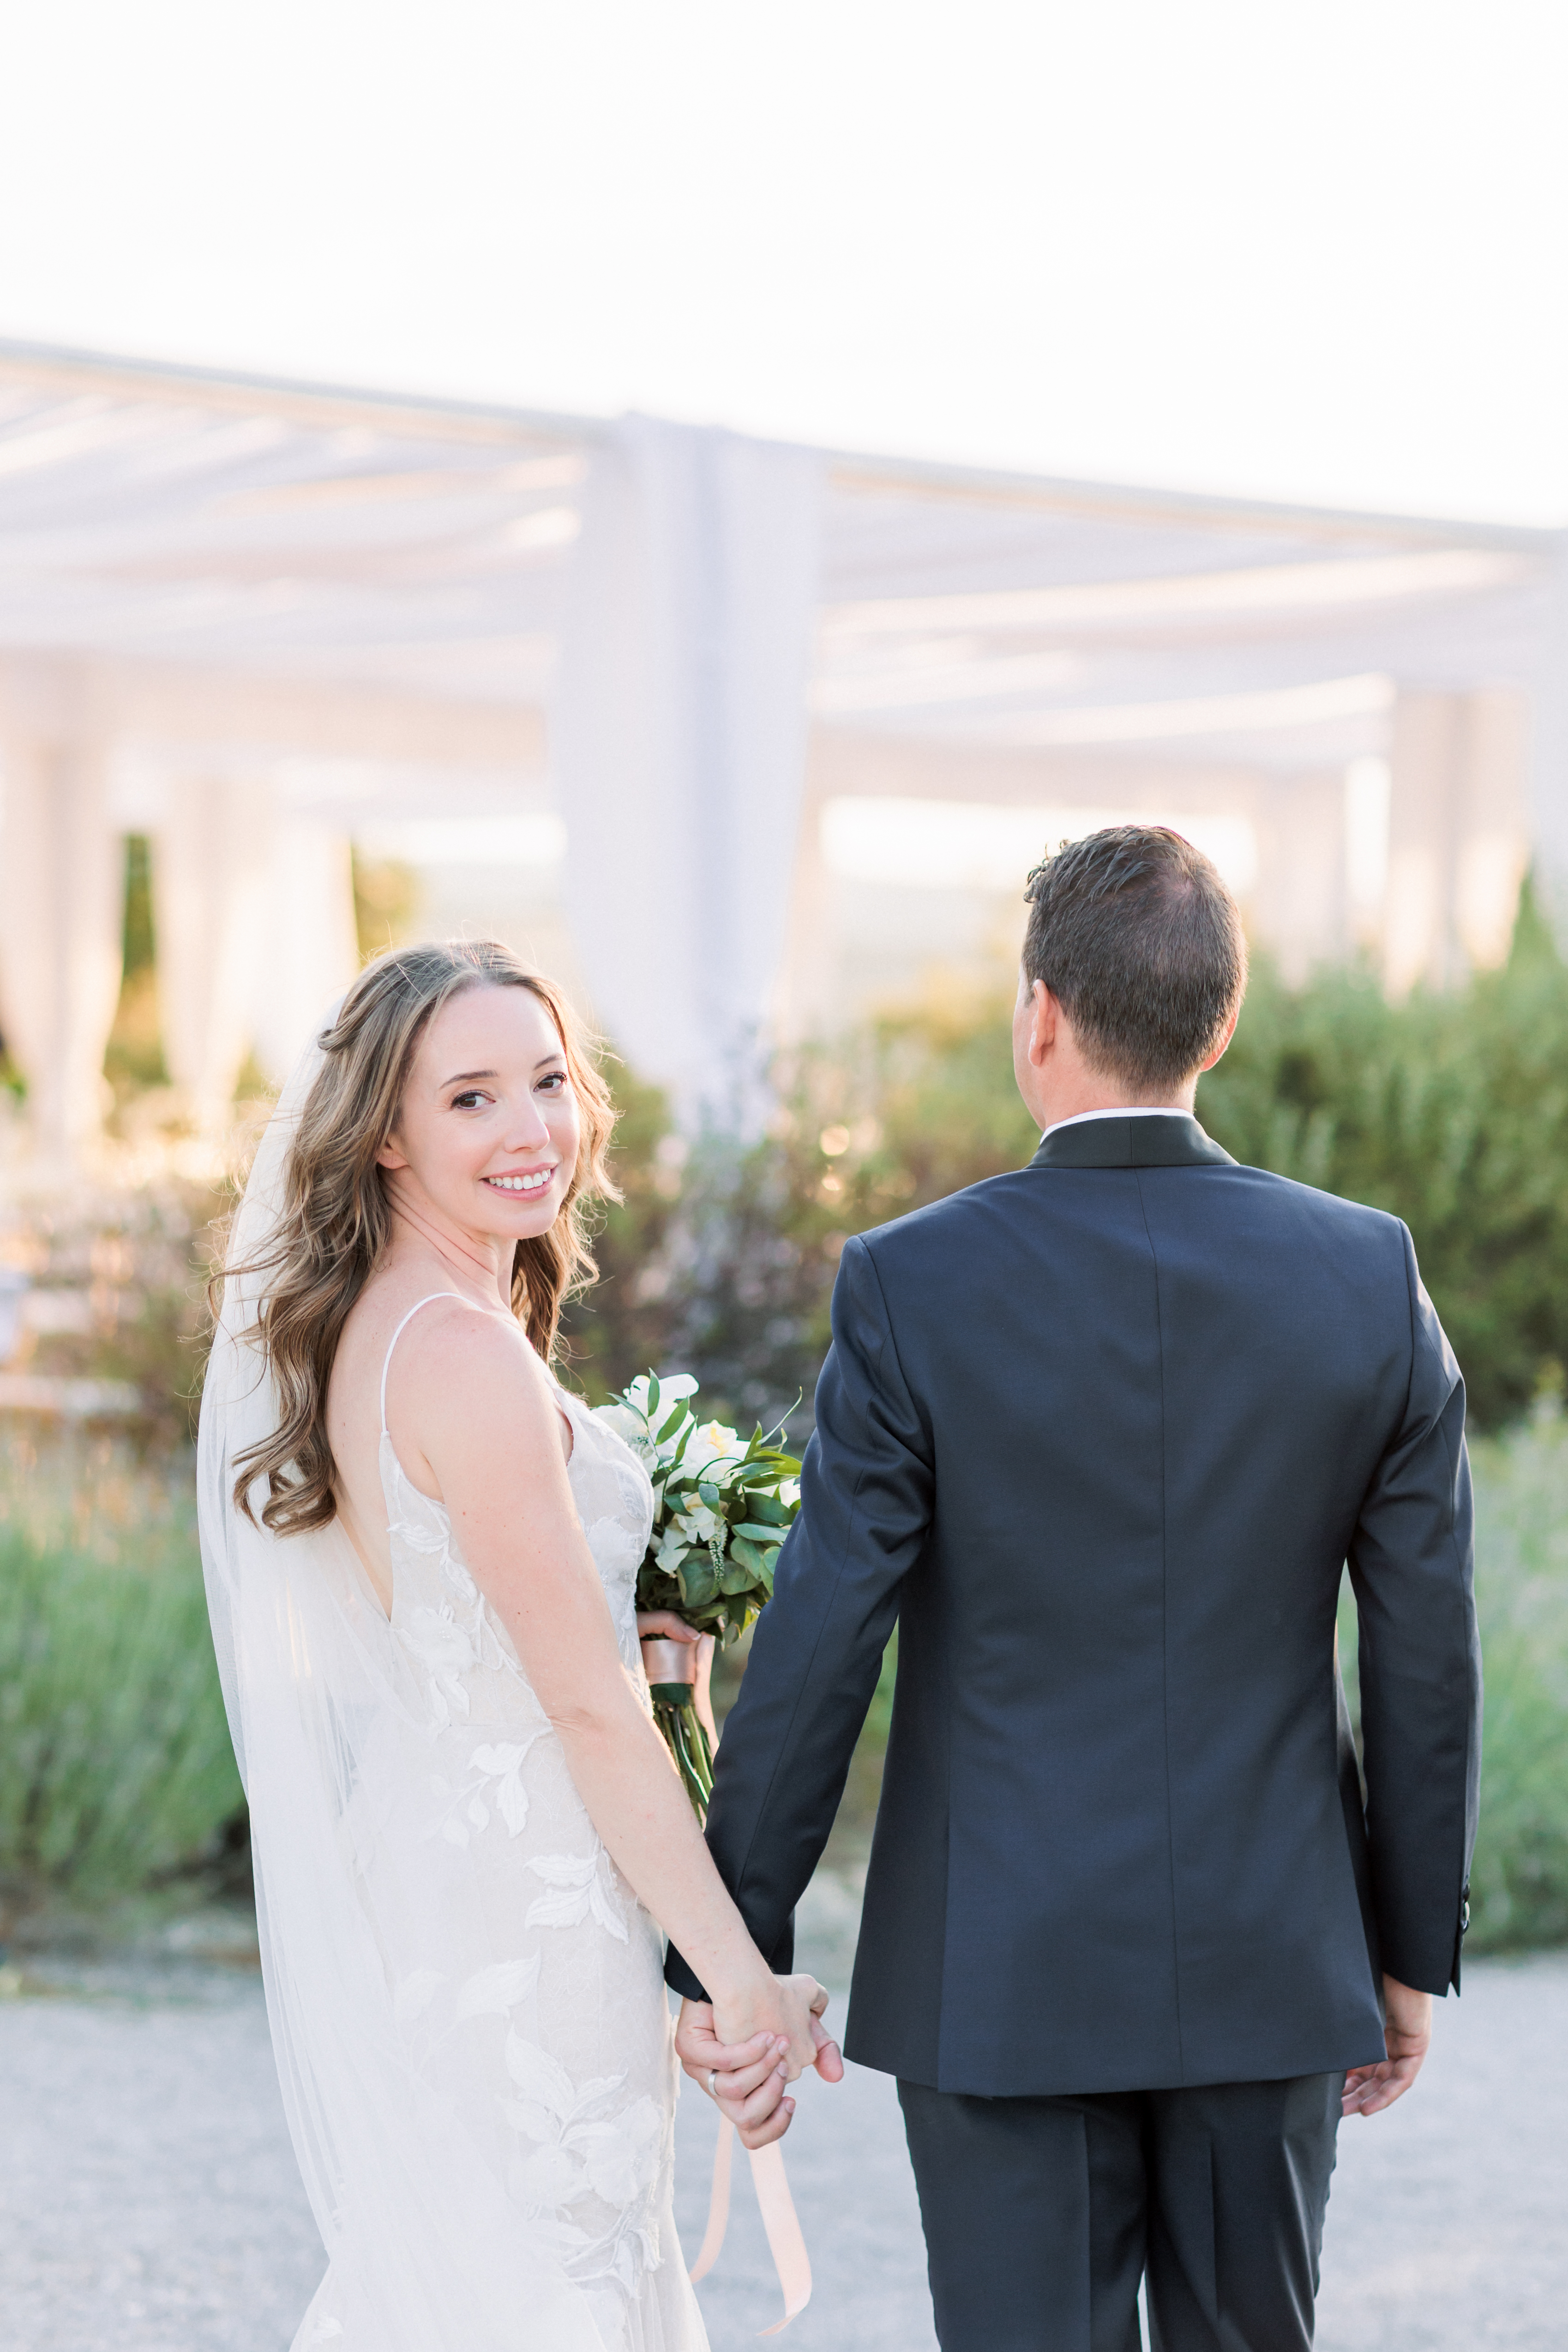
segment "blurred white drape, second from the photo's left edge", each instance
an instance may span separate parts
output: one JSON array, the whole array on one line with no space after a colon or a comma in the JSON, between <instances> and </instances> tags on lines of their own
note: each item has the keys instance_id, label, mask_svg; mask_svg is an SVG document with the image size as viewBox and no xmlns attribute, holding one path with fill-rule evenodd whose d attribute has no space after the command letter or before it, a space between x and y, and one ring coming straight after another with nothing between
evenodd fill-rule
<instances>
[{"instance_id":1,"label":"blurred white drape, second from the photo's left edge","mask_svg":"<svg viewBox=\"0 0 1568 2352\"><path fill-rule=\"evenodd\" d=\"M158 1014L195 1127L221 1134L270 983L270 797L263 783L169 779L153 835Z\"/></svg>"}]
</instances>

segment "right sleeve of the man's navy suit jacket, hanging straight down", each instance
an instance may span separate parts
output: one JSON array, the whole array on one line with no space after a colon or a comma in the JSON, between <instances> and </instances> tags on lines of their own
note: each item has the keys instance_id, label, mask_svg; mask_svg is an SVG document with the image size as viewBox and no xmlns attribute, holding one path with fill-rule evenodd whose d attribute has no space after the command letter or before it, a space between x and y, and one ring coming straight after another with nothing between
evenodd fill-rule
<instances>
[{"instance_id":1,"label":"right sleeve of the man's navy suit jacket, hanging straight down","mask_svg":"<svg viewBox=\"0 0 1568 2352\"><path fill-rule=\"evenodd\" d=\"M1403 1230L1403 1228L1401 1228ZM1410 1388L1349 1548L1361 1653L1366 1837L1382 1966L1460 1983L1481 1778L1465 1383L1403 1235Z\"/></svg>"}]
</instances>

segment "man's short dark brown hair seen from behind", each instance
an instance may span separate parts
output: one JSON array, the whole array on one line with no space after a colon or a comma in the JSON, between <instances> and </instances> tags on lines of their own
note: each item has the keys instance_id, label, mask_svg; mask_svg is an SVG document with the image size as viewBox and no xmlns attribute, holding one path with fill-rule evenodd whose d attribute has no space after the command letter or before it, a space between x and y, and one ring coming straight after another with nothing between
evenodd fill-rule
<instances>
[{"instance_id":1,"label":"man's short dark brown hair seen from behind","mask_svg":"<svg viewBox=\"0 0 1568 2352\"><path fill-rule=\"evenodd\" d=\"M1025 978L1058 997L1095 1070L1159 1096L1208 1061L1246 988L1246 936L1201 849L1107 826L1063 842L1025 898Z\"/></svg>"}]
</instances>

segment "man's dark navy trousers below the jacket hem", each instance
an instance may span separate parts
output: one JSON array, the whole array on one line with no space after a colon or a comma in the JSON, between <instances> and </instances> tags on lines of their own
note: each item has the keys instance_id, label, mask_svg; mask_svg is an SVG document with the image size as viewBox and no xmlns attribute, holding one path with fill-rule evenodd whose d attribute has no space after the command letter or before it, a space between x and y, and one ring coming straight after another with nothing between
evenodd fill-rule
<instances>
[{"instance_id":1,"label":"man's dark navy trousers below the jacket hem","mask_svg":"<svg viewBox=\"0 0 1568 2352\"><path fill-rule=\"evenodd\" d=\"M943 2352L1307 2352L1342 2089L900 2082Z\"/></svg>"}]
</instances>

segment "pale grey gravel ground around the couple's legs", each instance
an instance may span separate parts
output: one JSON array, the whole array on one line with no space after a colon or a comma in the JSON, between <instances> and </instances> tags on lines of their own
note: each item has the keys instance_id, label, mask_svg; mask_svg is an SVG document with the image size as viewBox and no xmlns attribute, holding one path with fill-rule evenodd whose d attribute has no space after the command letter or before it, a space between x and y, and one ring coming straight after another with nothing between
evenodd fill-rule
<instances>
[{"instance_id":1,"label":"pale grey gravel ground around the couple's legs","mask_svg":"<svg viewBox=\"0 0 1568 2352\"><path fill-rule=\"evenodd\" d=\"M0 2114L7 2352L287 2352L322 2253L254 1978L200 1964L45 1971L0 2002ZM1465 1999L1439 2009L1418 2091L1340 2138L1321 2352L1559 2352L1566 2124L1568 1957L1472 1964ZM712 2107L684 2098L689 2251L712 2136ZM806 2084L788 2157L816 2265L797 2352L931 2352L891 2082L851 2070L839 2089ZM743 2166L701 2298L712 2352L738 2352L776 2317Z\"/></svg>"}]
</instances>

